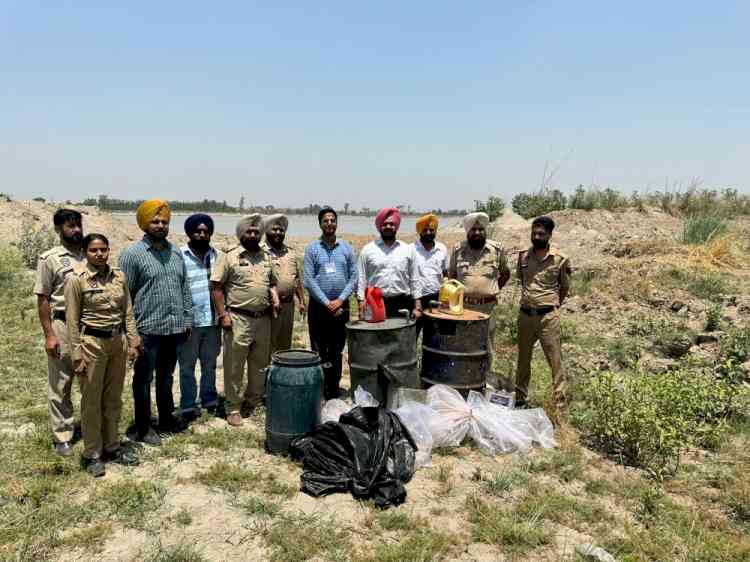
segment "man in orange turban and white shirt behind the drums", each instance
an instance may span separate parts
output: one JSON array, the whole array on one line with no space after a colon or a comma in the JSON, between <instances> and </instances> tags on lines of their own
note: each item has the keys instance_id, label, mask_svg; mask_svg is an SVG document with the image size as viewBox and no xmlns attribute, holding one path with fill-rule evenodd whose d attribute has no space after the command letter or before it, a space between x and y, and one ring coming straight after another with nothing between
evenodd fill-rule
<instances>
[{"instance_id":1,"label":"man in orange turban and white shirt behind the drums","mask_svg":"<svg viewBox=\"0 0 750 562\"><path fill-rule=\"evenodd\" d=\"M417 293L414 296L420 300L423 310L430 307L431 301L440 298L440 286L448 274L448 249L445 244L435 241L437 227L438 218L432 213L417 220L419 241L414 243ZM421 331L420 319L417 322L417 336Z\"/></svg>"}]
</instances>

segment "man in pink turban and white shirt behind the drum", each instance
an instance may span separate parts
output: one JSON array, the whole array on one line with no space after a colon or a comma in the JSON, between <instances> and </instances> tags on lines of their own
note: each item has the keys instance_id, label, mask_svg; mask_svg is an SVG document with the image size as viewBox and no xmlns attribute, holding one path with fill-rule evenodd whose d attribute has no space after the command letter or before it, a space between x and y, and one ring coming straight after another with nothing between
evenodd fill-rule
<instances>
[{"instance_id":1,"label":"man in pink turban and white shirt behind the drum","mask_svg":"<svg viewBox=\"0 0 750 562\"><path fill-rule=\"evenodd\" d=\"M417 260L414 246L396 239L401 226L401 214L394 207L381 209L375 217L380 239L362 248L357 263L357 299L359 317L364 317L365 289L378 287L383 292L385 314L398 316L402 309L414 318L422 315L422 303L417 296Z\"/></svg>"}]
</instances>

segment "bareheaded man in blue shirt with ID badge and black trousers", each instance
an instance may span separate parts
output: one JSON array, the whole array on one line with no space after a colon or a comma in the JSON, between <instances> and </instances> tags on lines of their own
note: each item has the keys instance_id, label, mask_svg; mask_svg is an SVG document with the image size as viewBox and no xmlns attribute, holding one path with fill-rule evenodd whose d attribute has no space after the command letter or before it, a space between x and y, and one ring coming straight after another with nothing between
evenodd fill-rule
<instances>
[{"instance_id":1,"label":"bareheaded man in blue shirt with ID badge and black trousers","mask_svg":"<svg viewBox=\"0 0 750 562\"><path fill-rule=\"evenodd\" d=\"M307 325L310 347L317 351L323 364L326 400L341 396L341 354L346 344L349 321L349 297L357 284L357 259L352 247L336 240L338 215L331 207L318 213L322 236L305 248L305 287L310 292Z\"/></svg>"}]
</instances>

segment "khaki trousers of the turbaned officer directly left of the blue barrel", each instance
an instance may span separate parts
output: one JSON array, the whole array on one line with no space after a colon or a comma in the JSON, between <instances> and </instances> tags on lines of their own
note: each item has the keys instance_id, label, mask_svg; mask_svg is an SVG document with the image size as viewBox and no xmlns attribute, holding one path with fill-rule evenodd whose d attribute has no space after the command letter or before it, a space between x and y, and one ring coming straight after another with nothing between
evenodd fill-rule
<instances>
[{"instance_id":1,"label":"khaki trousers of the turbaned officer directly left of the blue barrel","mask_svg":"<svg viewBox=\"0 0 750 562\"><path fill-rule=\"evenodd\" d=\"M240 411L242 402L257 406L266 394L266 375L262 369L271 359L271 316L250 318L230 311L232 329L224 330L224 350L229 352L224 370L224 394L227 414ZM242 379L247 372L247 386Z\"/></svg>"}]
</instances>

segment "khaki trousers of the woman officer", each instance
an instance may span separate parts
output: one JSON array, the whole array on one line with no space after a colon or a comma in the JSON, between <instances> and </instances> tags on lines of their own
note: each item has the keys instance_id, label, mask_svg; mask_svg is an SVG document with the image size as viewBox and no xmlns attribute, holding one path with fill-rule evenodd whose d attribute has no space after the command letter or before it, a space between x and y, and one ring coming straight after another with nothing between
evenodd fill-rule
<instances>
[{"instance_id":1,"label":"khaki trousers of the woman officer","mask_svg":"<svg viewBox=\"0 0 750 562\"><path fill-rule=\"evenodd\" d=\"M117 426L122 411L122 388L127 365L127 340L124 334L111 338L83 335L81 351L88 362L81 384L81 432L83 456L99 458L102 450L120 447Z\"/></svg>"}]
</instances>

